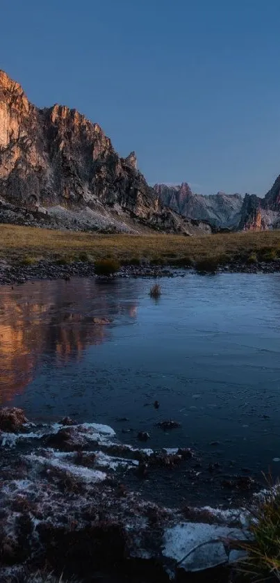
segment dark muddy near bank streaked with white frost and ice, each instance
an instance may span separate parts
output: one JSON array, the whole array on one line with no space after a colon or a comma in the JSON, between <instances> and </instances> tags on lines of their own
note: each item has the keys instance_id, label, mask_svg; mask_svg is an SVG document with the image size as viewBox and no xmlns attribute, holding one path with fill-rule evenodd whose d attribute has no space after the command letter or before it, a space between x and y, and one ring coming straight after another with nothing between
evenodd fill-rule
<instances>
[{"instance_id":1,"label":"dark muddy near bank streaked with white frost and ice","mask_svg":"<svg viewBox=\"0 0 280 583\"><path fill-rule=\"evenodd\" d=\"M122 445L109 426L69 418L35 425L18 409L0 410L0 427L1 581L47 569L81 582L190 582L208 580L208 569L215 580L217 568L228 580L244 510L193 508L186 520L124 485L128 472L181 463L190 451Z\"/></svg>"}]
</instances>

